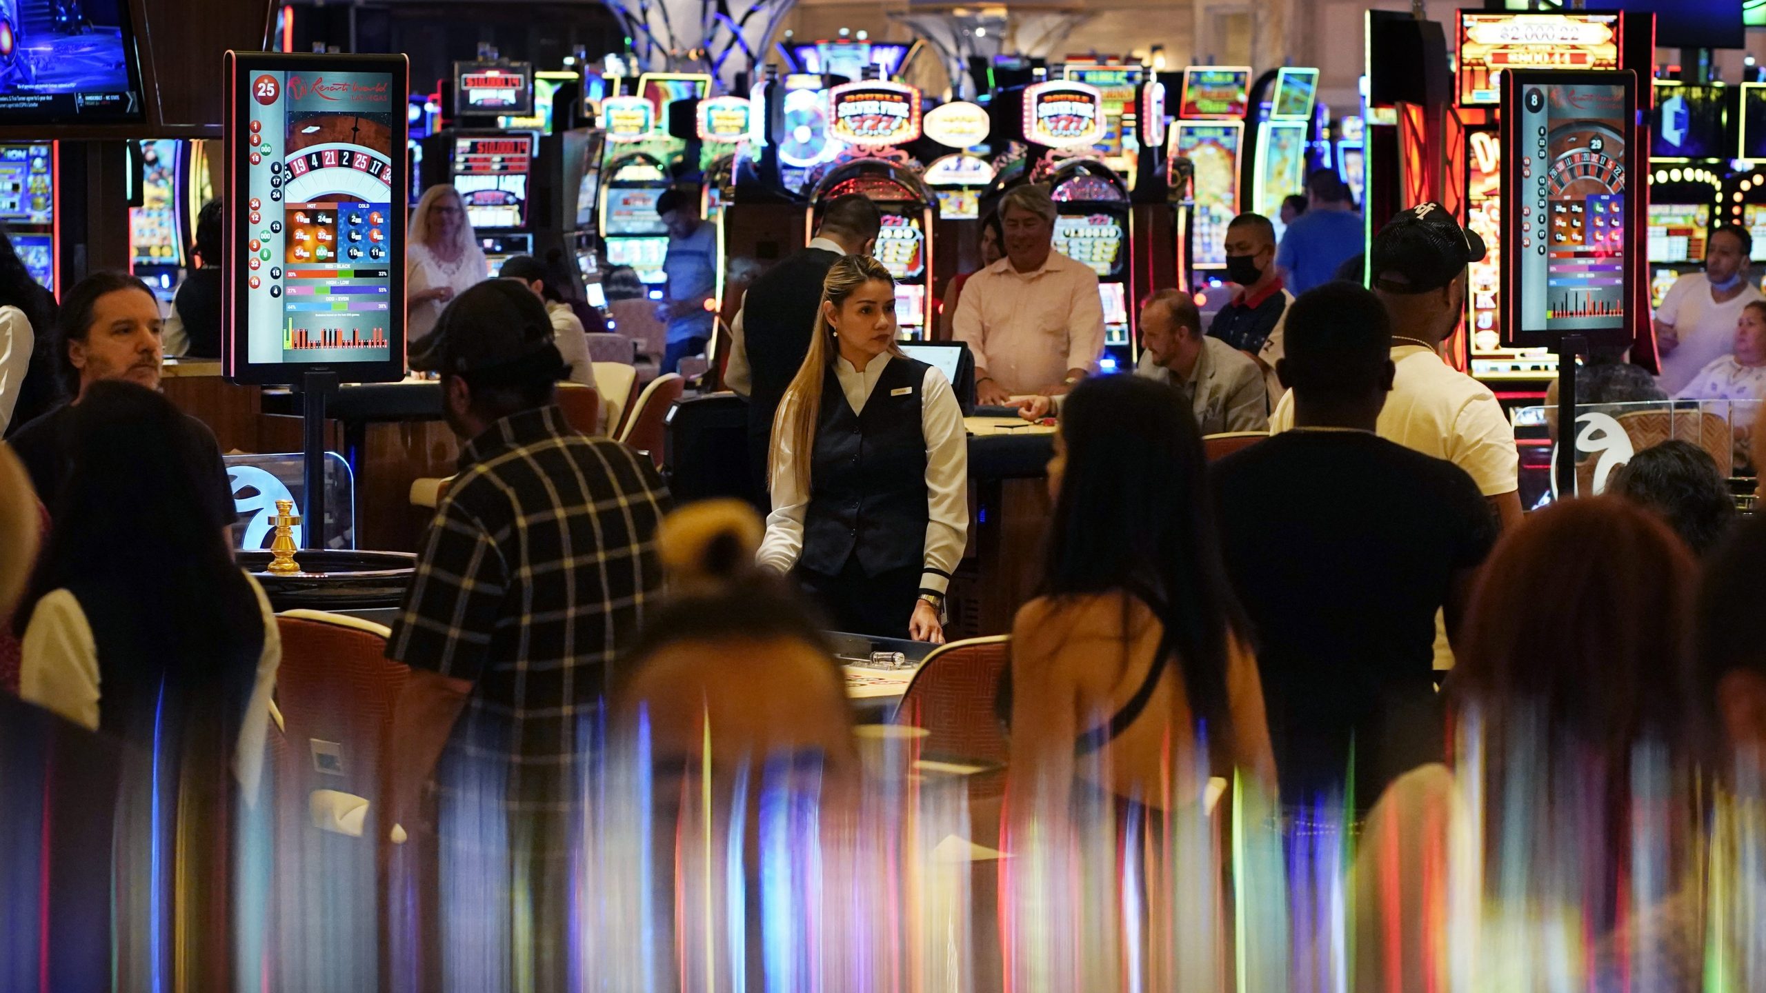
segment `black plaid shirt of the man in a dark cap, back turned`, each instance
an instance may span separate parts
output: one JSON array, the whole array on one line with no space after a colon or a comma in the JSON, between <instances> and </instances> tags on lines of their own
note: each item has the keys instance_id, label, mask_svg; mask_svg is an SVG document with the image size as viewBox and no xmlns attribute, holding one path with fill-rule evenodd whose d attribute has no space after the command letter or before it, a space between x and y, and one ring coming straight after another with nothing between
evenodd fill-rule
<instances>
[{"instance_id":1,"label":"black plaid shirt of the man in a dark cap, back turned","mask_svg":"<svg viewBox=\"0 0 1766 993\"><path fill-rule=\"evenodd\" d=\"M507 776L512 807L570 806L608 664L662 587L668 502L648 458L577 435L556 406L466 443L387 643L475 684L445 765Z\"/></svg>"}]
</instances>

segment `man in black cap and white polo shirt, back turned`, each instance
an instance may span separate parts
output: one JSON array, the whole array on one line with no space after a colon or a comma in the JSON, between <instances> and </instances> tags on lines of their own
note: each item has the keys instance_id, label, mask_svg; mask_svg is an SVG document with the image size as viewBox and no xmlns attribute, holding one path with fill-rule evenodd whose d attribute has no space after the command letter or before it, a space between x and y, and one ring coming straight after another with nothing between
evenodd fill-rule
<instances>
[{"instance_id":1,"label":"man in black cap and white polo shirt, back turned","mask_svg":"<svg viewBox=\"0 0 1766 993\"><path fill-rule=\"evenodd\" d=\"M1521 454L1515 429L1491 387L1441 359L1441 341L1466 313L1466 267L1483 258L1483 239L1460 228L1439 203L1400 212L1369 249L1372 290L1392 316L1395 375L1376 433L1446 459L1478 484L1499 528L1521 523ZM1270 433L1294 426L1294 394L1270 415ZM1453 652L1436 615L1436 668Z\"/></svg>"}]
</instances>

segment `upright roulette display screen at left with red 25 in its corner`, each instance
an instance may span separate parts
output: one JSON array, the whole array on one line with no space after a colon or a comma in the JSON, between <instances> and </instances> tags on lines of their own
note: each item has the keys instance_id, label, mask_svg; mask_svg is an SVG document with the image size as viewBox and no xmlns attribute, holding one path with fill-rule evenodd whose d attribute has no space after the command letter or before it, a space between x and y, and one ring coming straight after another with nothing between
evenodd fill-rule
<instances>
[{"instance_id":1,"label":"upright roulette display screen at left with red 25 in its corner","mask_svg":"<svg viewBox=\"0 0 1766 993\"><path fill-rule=\"evenodd\" d=\"M226 375L404 376L403 55L226 55Z\"/></svg>"}]
</instances>

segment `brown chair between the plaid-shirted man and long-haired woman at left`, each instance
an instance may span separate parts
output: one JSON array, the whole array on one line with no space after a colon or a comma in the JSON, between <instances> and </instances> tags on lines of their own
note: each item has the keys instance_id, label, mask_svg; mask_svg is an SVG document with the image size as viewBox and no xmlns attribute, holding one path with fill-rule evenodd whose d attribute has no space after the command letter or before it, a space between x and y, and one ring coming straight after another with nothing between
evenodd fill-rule
<instances>
[{"instance_id":1,"label":"brown chair between the plaid-shirted man and long-haired woman at left","mask_svg":"<svg viewBox=\"0 0 1766 993\"><path fill-rule=\"evenodd\" d=\"M389 661L389 629L355 617L291 610L275 707L275 989L373 989L383 974L390 906L385 866L392 705L410 670ZM297 975L286 975L295 972Z\"/></svg>"}]
</instances>

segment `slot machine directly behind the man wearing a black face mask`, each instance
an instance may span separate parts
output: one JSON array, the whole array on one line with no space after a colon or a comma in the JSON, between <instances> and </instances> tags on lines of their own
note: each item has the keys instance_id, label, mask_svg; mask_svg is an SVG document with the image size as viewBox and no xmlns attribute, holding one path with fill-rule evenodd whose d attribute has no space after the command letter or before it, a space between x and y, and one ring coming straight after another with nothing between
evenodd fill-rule
<instances>
[{"instance_id":1,"label":"slot machine directly behind the man wearing a black face mask","mask_svg":"<svg viewBox=\"0 0 1766 993\"><path fill-rule=\"evenodd\" d=\"M1240 154L1245 145L1250 67L1190 65L1183 71L1178 120L1171 124L1171 157L1194 170L1190 270L1219 283L1226 269L1226 226L1240 210ZM1190 286L1196 290L1197 286Z\"/></svg>"}]
</instances>

